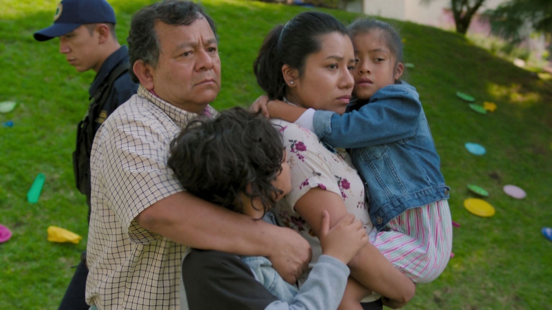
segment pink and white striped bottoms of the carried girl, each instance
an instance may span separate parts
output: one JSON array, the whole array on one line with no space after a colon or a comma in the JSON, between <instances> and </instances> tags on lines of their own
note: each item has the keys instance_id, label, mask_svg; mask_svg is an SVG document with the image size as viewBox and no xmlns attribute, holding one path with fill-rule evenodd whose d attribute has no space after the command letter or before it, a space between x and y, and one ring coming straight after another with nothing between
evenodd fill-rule
<instances>
[{"instance_id":1,"label":"pink and white striped bottoms of the carried girl","mask_svg":"<svg viewBox=\"0 0 552 310\"><path fill-rule=\"evenodd\" d=\"M408 209L392 219L390 231L370 232L370 243L413 282L435 280L452 249L452 219L446 199Z\"/></svg>"}]
</instances>

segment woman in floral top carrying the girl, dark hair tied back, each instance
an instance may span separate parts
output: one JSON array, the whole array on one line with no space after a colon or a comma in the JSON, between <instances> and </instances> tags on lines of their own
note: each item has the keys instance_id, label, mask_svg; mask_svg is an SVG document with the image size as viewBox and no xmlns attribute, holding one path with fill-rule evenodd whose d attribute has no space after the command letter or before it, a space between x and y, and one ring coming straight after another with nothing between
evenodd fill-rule
<instances>
[{"instance_id":1,"label":"woman in floral top carrying the girl, dark hair tied back","mask_svg":"<svg viewBox=\"0 0 552 310\"><path fill-rule=\"evenodd\" d=\"M347 29L331 15L306 12L270 31L254 71L268 97L295 106L298 116L307 108L340 115L346 111L355 86L351 74L354 66ZM344 149L328 147L301 126L285 120L273 120L273 124L281 128L291 169L291 191L276 206L275 216L280 224L309 240L312 263L321 255L316 236L320 236L322 210L329 213L330 226L351 213L363 223L367 234L373 231L364 182L352 165L352 157ZM390 306L400 306L413 296L413 282L373 244L360 249L348 266L351 277L342 309L360 309L358 301L364 296L364 301L374 301L383 295L390 299Z\"/></svg>"}]
</instances>

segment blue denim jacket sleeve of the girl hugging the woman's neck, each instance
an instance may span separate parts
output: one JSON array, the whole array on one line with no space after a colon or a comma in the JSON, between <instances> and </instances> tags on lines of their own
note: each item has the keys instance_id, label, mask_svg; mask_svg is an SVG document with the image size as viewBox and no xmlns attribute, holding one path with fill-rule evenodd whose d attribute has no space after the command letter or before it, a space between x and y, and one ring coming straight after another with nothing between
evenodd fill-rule
<instances>
[{"instance_id":1,"label":"blue denim jacket sleeve of the girl hugging the woman's neck","mask_svg":"<svg viewBox=\"0 0 552 310\"><path fill-rule=\"evenodd\" d=\"M416 89L402 82L381 88L358 111L318 110L313 122L316 135L332 146L367 147L414 136L421 112Z\"/></svg>"}]
</instances>

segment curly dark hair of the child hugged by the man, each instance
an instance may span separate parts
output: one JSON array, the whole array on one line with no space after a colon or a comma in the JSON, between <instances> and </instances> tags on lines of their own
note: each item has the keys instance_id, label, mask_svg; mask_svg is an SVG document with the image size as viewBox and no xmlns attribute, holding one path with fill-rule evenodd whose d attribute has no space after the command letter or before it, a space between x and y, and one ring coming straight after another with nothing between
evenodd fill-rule
<instances>
[{"instance_id":1,"label":"curly dark hair of the child hugged by the man","mask_svg":"<svg viewBox=\"0 0 552 310\"><path fill-rule=\"evenodd\" d=\"M171 142L168 166L191 194L241 212L243 193L258 197L266 211L283 193L272 185L283 160L278 130L262 115L232 108L190 122Z\"/></svg>"}]
</instances>

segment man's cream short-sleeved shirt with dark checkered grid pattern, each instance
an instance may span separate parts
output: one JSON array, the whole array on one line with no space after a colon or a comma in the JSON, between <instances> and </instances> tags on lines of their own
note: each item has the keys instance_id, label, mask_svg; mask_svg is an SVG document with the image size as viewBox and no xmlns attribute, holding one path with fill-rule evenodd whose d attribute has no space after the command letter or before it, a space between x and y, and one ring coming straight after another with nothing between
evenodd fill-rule
<instances>
[{"instance_id":1,"label":"man's cream short-sleeved shirt with dark checkered grid pattern","mask_svg":"<svg viewBox=\"0 0 552 310\"><path fill-rule=\"evenodd\" d=\"M215 116L216 111L208 106L204 114ZM166 163L171 140L195 117L140 85L96 133L87 303L99 309L179 307L186 247L147 231L134 218L184 190Z\"/></svg>"}]
</instances>

